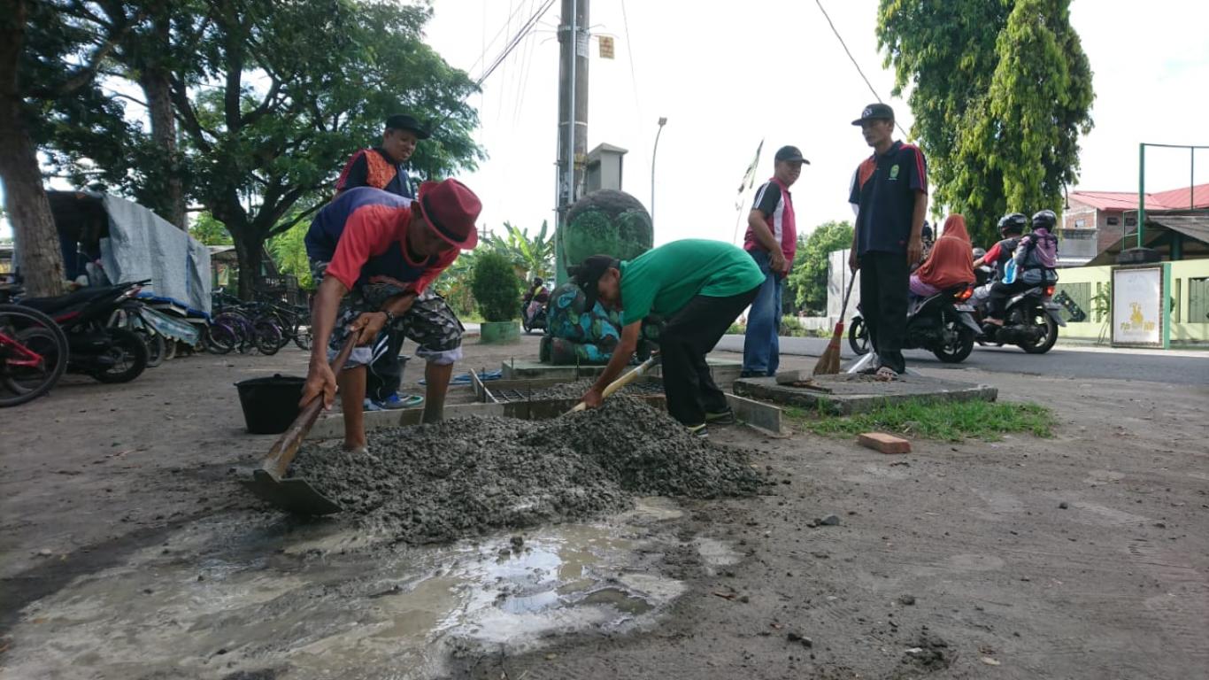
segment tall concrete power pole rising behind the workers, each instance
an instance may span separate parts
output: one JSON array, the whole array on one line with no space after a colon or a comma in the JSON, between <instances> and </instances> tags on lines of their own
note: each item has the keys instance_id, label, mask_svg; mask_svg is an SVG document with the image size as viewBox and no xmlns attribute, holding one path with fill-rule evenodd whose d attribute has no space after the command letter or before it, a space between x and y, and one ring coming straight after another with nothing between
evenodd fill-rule
<instances>
[{"instance_id":1,"label":"tall concrete power pole rising behind the workers","mask_svg":"<svg viewBox=\"0 0 1209 680\"><path fill-rule=\"evenodd\" d=\"M589 0L562 0L559 22L557 231L554 241L555 283L559 286L567 282L562 229L567 208L583 194L588 155L588 4Z\"/></svg>"}]
</instances>

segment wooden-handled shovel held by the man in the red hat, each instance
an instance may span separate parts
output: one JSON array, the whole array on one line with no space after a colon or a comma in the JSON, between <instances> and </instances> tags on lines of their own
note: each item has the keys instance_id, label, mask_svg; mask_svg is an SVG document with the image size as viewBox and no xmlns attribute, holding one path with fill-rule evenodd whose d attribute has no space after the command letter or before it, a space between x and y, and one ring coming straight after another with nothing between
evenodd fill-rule
<instances>
[{"instance_id":1,"label":"wooden-handled shovel held by the man in the red hat","mask_svg":"<svg viewBox=\"0 0 1209 680\"><path fill-rule=\"evenodd\" d=\"M349 333L345 346L331 361L331 373L339 374L345 368L348 355L357 345L357 333ZM314 486L300 477L285 477L294 455L297 454L302 438L311 431L311 426L319 417L323 410L323 394L317 394L303 407L299 416L294 419L290 427L273 442L273 448L268 450L265 460L260 461L251 473L251 479L243 483L253 494L261 500L268 501L283 511L295 514L331 514L340 512L340 506L331 499L324 496Z\"/></svg>"}]
</instances>

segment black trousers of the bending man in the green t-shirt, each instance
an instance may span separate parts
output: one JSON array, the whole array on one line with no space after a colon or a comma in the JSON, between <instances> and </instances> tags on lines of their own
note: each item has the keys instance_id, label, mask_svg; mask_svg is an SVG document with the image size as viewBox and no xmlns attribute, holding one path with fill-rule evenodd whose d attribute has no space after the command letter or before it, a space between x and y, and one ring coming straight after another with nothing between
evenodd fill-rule
<instances>
[{"instance_id":1,"label":"black trousers of the bending man in the green t-shirt","mask_svg":"<svg viewBox=\"0 0 1209 680\"><path fill-rule=\"evenodd\" d=\"M727 410L727 397L713 382L705 355L752 304L757 292L758 286L729 298L698 295L659 332L667 413L681 423L701 425L706 413Z\"/></svg>"}]
</instances>

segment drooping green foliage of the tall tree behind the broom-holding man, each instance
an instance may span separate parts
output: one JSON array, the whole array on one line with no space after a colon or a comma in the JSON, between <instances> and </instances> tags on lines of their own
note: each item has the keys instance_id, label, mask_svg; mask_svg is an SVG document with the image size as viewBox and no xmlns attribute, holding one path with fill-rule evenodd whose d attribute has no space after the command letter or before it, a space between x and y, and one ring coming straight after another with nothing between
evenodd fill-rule
<instances>
[{"instance_id":1,"label":"drooping green foliage of the tall tree behind the broom-holding man","mask_svg":"<svg viewBox=\"0 0 1209 680\"><path fill-rule=\"evenodd\" d=\"M1057 208L1091 129L1092 71L1069 0L880 0L878 44L910 87L936 217L962 213L974 243L1005 213Z\"/></svg>"}]
</instances>

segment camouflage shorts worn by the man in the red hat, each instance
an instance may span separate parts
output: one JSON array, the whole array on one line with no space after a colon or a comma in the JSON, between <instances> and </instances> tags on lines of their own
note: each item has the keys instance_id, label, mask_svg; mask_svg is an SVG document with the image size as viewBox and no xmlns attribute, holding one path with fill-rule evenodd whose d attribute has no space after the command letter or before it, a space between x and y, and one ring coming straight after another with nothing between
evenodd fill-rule
<instances>
[{"instance_id":1,"label":"camouflage shorts worn by the man in the red hat","mask_svg":"<svg viewBox=\"0 0 1209 680\"><path fill-rule=\"evenodd\" d=\"M322 281L328 263L311 263L314 281ZM405 290L389 283L370 283L357 286L348 292L348 295L340 304L340 312L336 315L336 325L331 330L331 339L328 341L328 359L330 361L343 347L348 339L348 324L353 323L358 316L366 312L382 310L382 305L391 298L404 294ZM403 333L404 336L413 340L416 356L435 364L451 364L462 358L462 333L465 329L457 315L450 309L445 299L433 293L432 288L424 289L411 309L394 319L394 324L383 328L382 334L370 346L354 347L348 357L346 367L368 365L375 358L375 351L380 351L386 345L387 333Z\"/></svg>"}]
</instances>

